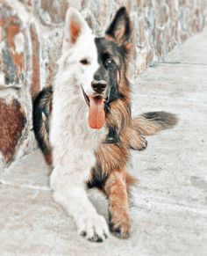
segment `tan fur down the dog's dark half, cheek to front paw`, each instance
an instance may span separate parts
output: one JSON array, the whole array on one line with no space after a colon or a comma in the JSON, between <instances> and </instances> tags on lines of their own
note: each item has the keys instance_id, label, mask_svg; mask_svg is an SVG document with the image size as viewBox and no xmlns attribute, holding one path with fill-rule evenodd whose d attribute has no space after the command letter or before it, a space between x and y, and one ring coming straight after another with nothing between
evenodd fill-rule
<instances>
[{"instance_id":1,"label":"tan fur down the dog's dark half, cheek to front paw","mask_svg":"<svg viewBox=\"0 0 207 256\"><path fill-rule=\"evenodd\" d=\"M132 46L128 44L128 48ZM106 115L106 125L116 128L119 133L118 144L102 143L96 151L97 166L101 166L107 179L103 186L103 192L109 199L110 227L120 238L127 238L131 232L131 219L128 207L128 189L126 184L126 165L129 161L130 136L127 132L132 126L130 109L130 84L125 77L128 67L123 65L119 72L118 90L125 95L124 99L118 99L111 103L111 112ZM127 181L133 180L127 176Z\"/></svg>"}]
</instances>

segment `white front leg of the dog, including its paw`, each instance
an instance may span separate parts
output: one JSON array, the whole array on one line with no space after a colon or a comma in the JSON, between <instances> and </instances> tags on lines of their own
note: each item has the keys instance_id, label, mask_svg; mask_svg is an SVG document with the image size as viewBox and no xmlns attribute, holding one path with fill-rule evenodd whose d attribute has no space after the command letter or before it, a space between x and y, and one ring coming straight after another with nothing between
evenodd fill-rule
<instances>
[{"instance_id":1,"label":"white front leg of the dog, including its paw","mask_svg":"<svg viewBox=\"0 0 207 256\"><path fill-rule=\"evenodd\" d=\"M102 242L108 237L108 225L89 201L81 173L57 176L55 172L60 171L55 169L51 176L54 200L73 216L79 235L90 241Z\"/></svg>"}]
</instances>

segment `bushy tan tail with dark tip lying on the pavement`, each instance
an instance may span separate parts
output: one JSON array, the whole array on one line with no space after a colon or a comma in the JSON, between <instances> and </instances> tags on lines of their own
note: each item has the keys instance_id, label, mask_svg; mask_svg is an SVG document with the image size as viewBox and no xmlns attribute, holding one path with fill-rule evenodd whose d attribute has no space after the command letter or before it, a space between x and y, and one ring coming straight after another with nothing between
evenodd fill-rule
<instances>
[{"instance_id":1,"label":"bushy tan tail with dark tip lying on the pavement","mask_svg":"<svg viewBox=\"0 0 207 256\"><path fill-rule=\"evenodd\" d=\"M161 130L173 128L178 122L174 113L148 112L132 119L132 127L139 135L155 135Z\"/></svg>"}]
</instances>

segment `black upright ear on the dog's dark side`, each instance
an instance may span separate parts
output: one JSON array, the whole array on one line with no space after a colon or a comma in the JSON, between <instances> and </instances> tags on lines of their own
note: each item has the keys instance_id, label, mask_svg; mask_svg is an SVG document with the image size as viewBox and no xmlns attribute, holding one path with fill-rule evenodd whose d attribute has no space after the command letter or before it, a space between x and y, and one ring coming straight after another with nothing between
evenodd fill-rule
<instances>
[{"instance_id":1,"label":"black upright ear on the dog's dark side","mask_svg":"<svg viewBox=\"0 0 207 256\"><path fill-rule=\"evenodd\" d=\"M125 10L125 7L121 7L113 18L111 25L105 32L107 35L110 35L112 38L122 44L130 40L131 35L131 25L130 18Z\"/></svg>"}]
</instances>

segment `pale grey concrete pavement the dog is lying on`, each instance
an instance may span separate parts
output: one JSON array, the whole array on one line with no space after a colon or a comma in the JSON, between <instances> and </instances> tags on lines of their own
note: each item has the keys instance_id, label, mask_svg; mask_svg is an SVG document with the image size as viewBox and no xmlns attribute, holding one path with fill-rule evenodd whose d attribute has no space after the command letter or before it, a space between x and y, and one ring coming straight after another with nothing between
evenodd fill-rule
<instances>
[{"instance_id":1,"label":"pale grey concrete pavement the dog is lying on","mask_svg":"<svg viewBox=\"0 0 207 256\"><path fill-rule=\"evenodd\" d=\"M207 29L136 77L133 92L133 114L165 110L180 122L132 151L132 237L79 238L38 150L0 172L0 255L207 255ZM102 194L90 199L107 217Z\"/></svg>"}]
</instances>

